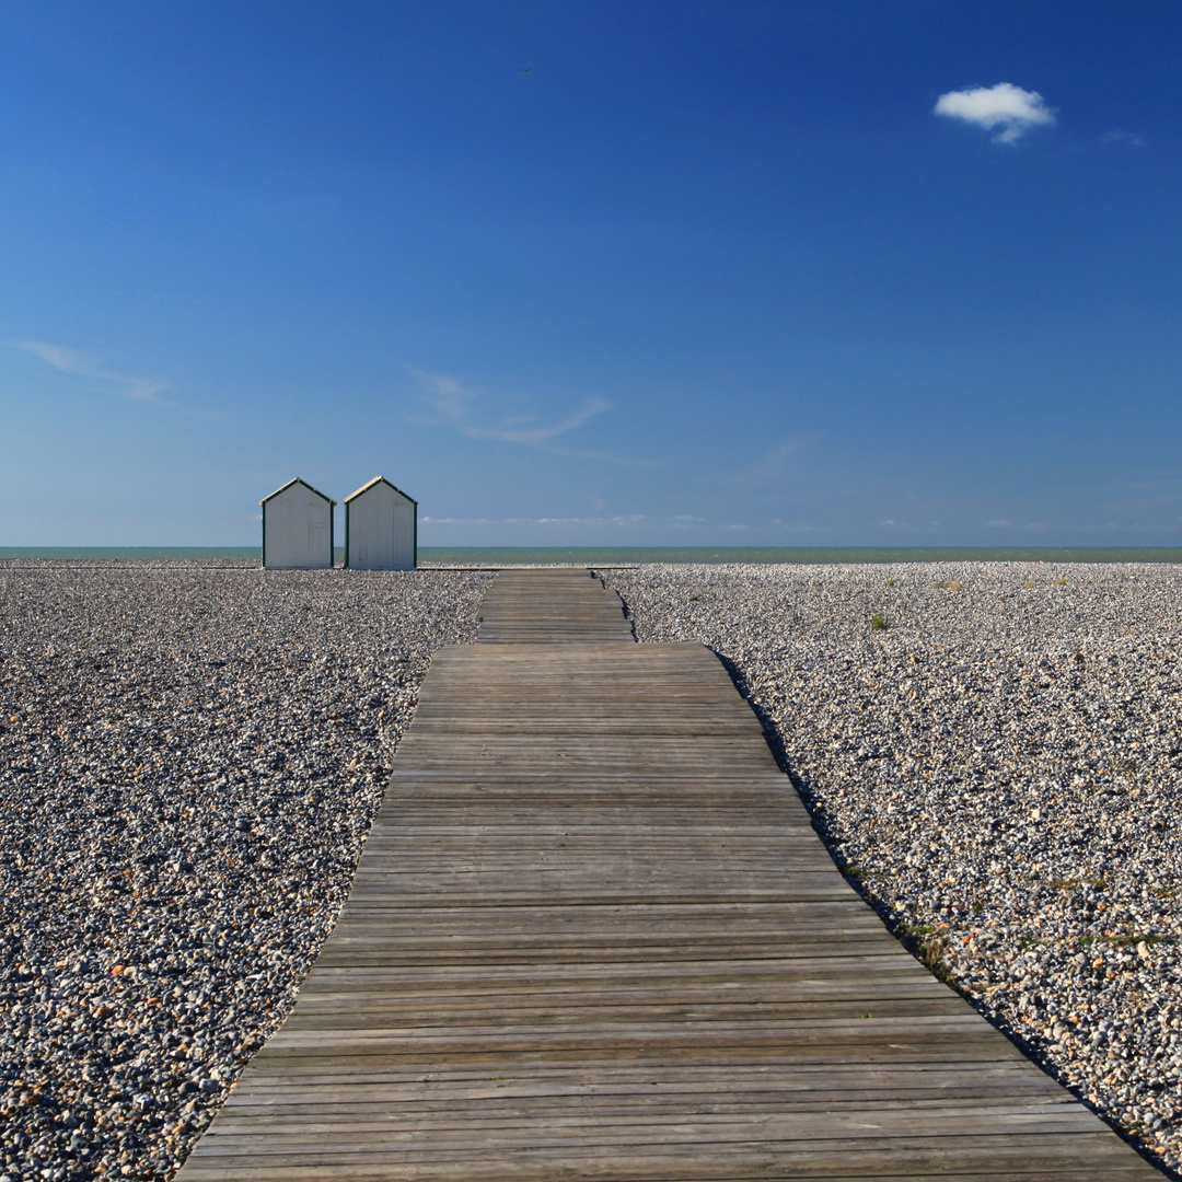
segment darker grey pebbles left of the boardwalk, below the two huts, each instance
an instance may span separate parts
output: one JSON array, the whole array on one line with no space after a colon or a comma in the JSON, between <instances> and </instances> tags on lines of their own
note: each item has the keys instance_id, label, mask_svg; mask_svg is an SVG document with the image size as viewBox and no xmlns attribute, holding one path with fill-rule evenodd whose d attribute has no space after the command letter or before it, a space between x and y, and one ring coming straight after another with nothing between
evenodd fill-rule
<instances>
[{"instance_id":1,"label":"darker grey pebbles left of the boardwalk, below the two huts","mask_svg":"<svg viewBox=\"0 0 1182 1182\"><path fill-rule=\"evenodd\" d=\"M291 1006L491 578L0 567L0 1182L180 1164Z\"/></svg>"}]
</instances>

